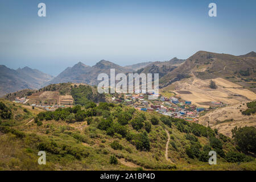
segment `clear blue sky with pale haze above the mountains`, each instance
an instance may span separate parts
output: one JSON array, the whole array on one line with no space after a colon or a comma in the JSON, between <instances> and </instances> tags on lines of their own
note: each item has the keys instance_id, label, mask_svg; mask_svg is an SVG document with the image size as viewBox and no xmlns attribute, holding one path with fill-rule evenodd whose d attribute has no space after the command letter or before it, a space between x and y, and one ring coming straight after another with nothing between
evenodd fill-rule
<instances>
[{"instance_id":1,"label":"clear blue sky with pale haze above the mountains","mask_svg":"<svg viewBox=\"0 0 256 182\"><path fill-rule=\"evenodd\" d=\"M38 4L46 4L46 17ZM210 17L209 3L217 17ZM0 0L0 64L56 76L79 61L119 65L256 51L256 1Z\"/></svg>"}]
</instances>

